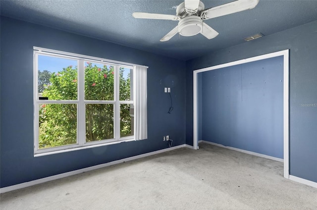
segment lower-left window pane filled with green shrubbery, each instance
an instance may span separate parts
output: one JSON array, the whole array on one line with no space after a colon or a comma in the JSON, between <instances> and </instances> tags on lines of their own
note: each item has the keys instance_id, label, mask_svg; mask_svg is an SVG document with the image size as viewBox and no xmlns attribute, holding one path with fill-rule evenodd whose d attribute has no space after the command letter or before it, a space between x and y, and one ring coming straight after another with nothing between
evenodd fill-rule
<instances>
[{"instance_id":1,"label":"lower-left window pane filled with green shrubbery","mask_svg":"<svg viewBox=\"0 0 317 210\"><path fill-rule=\"evenodd\" d=\"M39 104L39 149L76 144L76 139L76 104Z\"/></svg>"}]
</instances>

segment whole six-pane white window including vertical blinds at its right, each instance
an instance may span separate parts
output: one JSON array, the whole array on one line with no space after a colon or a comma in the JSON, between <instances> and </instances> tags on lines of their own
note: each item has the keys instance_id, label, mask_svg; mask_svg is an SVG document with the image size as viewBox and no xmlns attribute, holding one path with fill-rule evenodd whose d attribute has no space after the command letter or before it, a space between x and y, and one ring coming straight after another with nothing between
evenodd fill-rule
<instances>
[{"instance_id":1,"label":"whole six-pane white window including vertical blinds at its right","mask_svg":"<svg viewBox=\"0 0 317 210\"><path fill-rule=\"evenodd\" d=\"M146 139L146 71L34 47L35 154Z\"/></svg>"}]
</instances>

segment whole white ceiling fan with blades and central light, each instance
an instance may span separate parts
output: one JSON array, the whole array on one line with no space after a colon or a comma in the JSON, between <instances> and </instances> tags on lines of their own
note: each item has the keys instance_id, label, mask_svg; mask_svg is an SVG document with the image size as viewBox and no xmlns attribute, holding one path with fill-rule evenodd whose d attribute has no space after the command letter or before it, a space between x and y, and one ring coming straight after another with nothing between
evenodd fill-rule
<instances>
[{"instance_id":1,"label":"whole white ceiling fan with blades and central light","mask_svg":"<svg viewBox=\"0 0 317 210\"><path fill-rule=\"evenodd\" d=\"M170 40L177 33L186 37L201 33L207 39L212 39L218 32L203 20L252 9L258 2L259 0L236 0L205 9L204 3L200 0L185 0L177 6L176 15L134 12L132 16L143 19L178 20L178 25L159 40L161 42Z\"/></svg>"}]
</instances>

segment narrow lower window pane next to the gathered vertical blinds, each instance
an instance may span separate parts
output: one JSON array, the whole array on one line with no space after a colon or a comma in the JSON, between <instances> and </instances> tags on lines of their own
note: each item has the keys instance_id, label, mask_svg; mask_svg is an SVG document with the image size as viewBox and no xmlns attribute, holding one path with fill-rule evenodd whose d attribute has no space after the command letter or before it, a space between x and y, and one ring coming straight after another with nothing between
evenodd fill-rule
<instances>
[{"instance_id":1,"label":"narrow lower window pane next to the gathered vertical blinds","mask_svg":"<svg viewBox=\"0 0 317 210\"><path fill-rule=\"evenodd\" d=\"M134 134L134 108L133 105L120 105L120 137Z\"/></svg>"}]
</instances>

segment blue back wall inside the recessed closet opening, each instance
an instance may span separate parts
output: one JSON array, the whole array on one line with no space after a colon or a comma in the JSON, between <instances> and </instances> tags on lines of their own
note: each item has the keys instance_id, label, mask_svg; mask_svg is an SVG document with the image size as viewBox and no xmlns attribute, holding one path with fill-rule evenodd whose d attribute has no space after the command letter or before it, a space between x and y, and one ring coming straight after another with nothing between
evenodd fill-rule
<instances>
[{"instance_id":1,"label":"blue back wall inside the recessed closet opening","mask_svg":"<svg viewBox=\"0 0 317 210\"><path fill-rule=\"evenodd\" d=\"M199 74L199 140L283 158L283 56Z\"/></svg>"}]
</instances>

